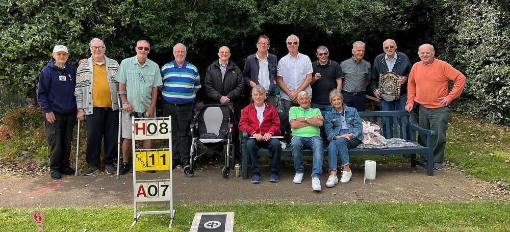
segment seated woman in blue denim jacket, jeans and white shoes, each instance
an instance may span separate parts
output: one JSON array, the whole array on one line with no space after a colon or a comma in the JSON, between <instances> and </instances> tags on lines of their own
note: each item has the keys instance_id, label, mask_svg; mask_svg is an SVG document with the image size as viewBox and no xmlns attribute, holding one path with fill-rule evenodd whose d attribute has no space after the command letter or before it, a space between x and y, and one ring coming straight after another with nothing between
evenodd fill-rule
<instances>
[{"instance_id":1,"label":"seated woman in blue denim jacket, jeans and white shoes","mask_svg":"<svg viewBox=\"0 0 510 232\"><path fill-rule=\"evenodd\" d=\"M349 168L349 148L354 148L363 140L363 124L356 109L347 107L344 104L342 92L333 90L329 93L329 102L333 108L326 112L324 127L329 140L328 162L329 177L326 187L333 187L338 184L337 178L337 155L342 160L342 178L340 183L347 184L350 181L352 172Z\"/></svg>"}]
</instances>

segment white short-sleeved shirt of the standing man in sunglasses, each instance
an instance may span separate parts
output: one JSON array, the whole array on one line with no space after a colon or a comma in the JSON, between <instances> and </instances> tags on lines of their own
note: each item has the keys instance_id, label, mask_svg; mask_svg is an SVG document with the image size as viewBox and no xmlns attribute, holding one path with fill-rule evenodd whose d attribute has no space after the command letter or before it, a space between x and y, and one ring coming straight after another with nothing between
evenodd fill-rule
<instances>
[{"instance_id":1,"label":"white short-sleeved shirt of the standing man in sunglasses","mask_svg":"<svg viewBox=\"0 0 510 232\"><path fill-rule=\"evenodd\" d=\"M312 73L312 61L307 55L297 54L297 58L294 59L290 54L283 57L278 62L278 68L276 71L277 76L282 76L285 85L290 91L296 91L303 84L304 79L307 78L307 74ZM312 96L312 88L307 86L304 91ZM280 92L283 99L290 100L289 95Z\"/></svg>"}]
</instances>

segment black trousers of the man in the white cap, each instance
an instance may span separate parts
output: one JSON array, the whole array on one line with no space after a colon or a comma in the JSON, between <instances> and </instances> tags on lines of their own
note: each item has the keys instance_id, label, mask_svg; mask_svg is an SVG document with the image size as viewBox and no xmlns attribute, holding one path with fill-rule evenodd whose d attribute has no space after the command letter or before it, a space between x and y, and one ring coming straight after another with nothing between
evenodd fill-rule
<instances>
[{"instance_id":1,"label":"black trousers of the man in the white cap","mask_svg":"<svg viewBox=\"0 0 510 232\"><path fill-rule=\"evenodd\" d=\"M55 114L55 122L45 120L44 131L49 145L49 168L60 171L69 167L72 131L76 121L76 112Z\"/></svg>"}]
</instances>

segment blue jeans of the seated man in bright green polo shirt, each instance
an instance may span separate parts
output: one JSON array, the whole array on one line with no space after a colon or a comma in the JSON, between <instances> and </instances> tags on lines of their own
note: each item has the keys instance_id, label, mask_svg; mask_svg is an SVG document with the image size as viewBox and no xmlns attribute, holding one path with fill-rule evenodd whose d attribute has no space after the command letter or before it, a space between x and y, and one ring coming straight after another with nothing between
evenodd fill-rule
<instances>
[{"instance_id":1,"label":"blue jeans of the seated man in bright green polo shirt","mask_svg":"<svg viewBox=\"0 0 510 232\"><path fill-rule=\"evenodd\" d=\"M320 136L292 138L292 157L294 158L294 168L296 173L303 173L303 149L312 149L314 154L314 164L312 167L312 178L322 176L322 139Z\"/></svg>"}]
</instances>

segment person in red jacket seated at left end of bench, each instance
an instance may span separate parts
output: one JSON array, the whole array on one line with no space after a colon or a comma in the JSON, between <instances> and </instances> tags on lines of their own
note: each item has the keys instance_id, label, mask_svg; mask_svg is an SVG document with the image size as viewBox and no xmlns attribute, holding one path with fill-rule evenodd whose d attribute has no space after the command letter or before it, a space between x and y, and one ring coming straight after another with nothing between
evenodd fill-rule
<instances>
[{"instance_id":1,"label":"person in red jacket seated at left end of bench","mask_svg":"<svg viewBox=\"0 0 510 232\"><path fill-rule=\"evenodd\" d=\"M251 162L251 172L253 177L251 183L260 183L260 167L257 151L259 148L268 148L271 152L271 176L270 182L278 182L278 171L280 156L282 154L282 145L272 136L280 135L280 119L276 109L269 104L266 99L266 90L261 85L256 85L251 90L253 102L243 109L241 120L239 121L239 130L247 132L251 137L246 142L248 157Z\"/></svg>"}]
</instances>

